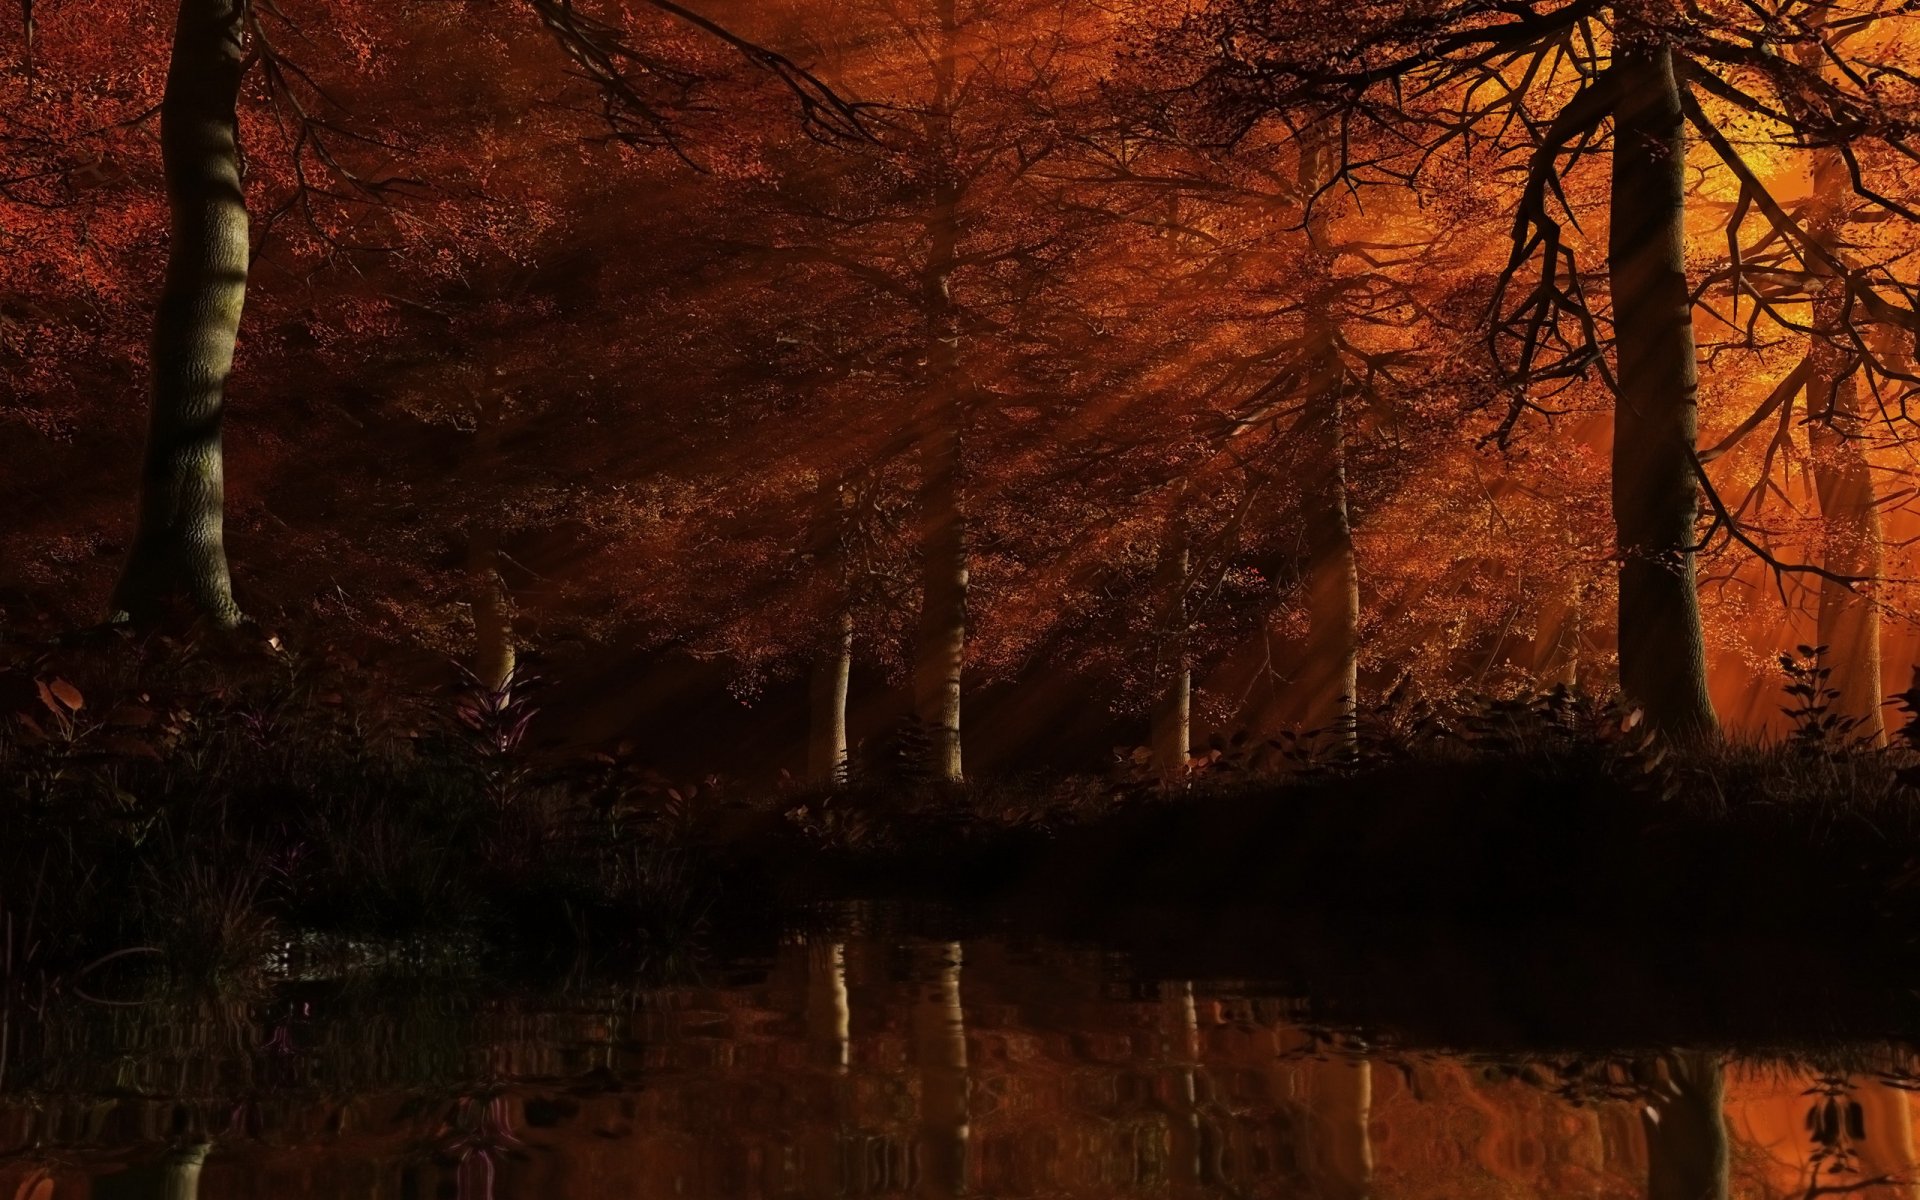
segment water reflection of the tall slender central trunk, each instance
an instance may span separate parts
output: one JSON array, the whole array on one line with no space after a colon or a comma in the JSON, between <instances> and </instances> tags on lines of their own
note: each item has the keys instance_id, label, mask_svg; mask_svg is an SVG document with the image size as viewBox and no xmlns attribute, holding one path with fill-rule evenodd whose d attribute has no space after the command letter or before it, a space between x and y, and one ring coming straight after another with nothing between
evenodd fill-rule
<instances>
[{"instance_id":1,"label":"water reflection of the tall slender central trunk","mask_svg":"<svg viewBox=\"0 0 1920 1200\"><path fill-rule=\"evenodd\" d=\"M935 947L914 1004L920 1066L920 1187L927 1196L968 1190L970 1083L966 1014L960 1008L960 943Z\"/></svg>"}]
</instances>

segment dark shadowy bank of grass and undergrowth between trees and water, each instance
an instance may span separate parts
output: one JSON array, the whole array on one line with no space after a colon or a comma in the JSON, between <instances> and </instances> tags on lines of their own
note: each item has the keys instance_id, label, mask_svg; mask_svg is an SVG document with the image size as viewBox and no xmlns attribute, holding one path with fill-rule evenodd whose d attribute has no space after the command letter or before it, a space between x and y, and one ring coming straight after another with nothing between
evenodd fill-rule
<instances>
[{"instance_id":1,"label":"dark shadowy bank of grass and undergrowth between trees and water","mask_svg":"<svg viewBox=\"0 0 1920 1200\"><path fill-rule=\"evenodd\" d=\"M8 685L4 993L380 947L632 975L854 902L1476 1044L1920 1023L1907 749L1668 751L1559 693L1375 712L1338 753L1223 743L1171 783L1121 762L943 787L902 764L741 791L618 747L541 755L524 701L484 689L388 703L284 666L161 687L71 662Z\"/></svg>"}]
</instances>

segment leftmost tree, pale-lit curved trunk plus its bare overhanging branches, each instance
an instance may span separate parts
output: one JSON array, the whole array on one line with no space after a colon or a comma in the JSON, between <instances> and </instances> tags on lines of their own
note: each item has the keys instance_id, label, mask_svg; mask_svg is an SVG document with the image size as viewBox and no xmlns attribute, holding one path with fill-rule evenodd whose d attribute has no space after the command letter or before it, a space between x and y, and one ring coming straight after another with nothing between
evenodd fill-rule
<instances>
[{"instance_id":1,"label":"leftmost tree, pale-lit curved trunk plus its bare overhanging branches","mask_svg":"<svg viewBox=\"0 0 1920 1200\"><path fill-rule=\"evenodd\" d=\"M570 0L530 0L530 8L601 90L616 136L672 144L668 111L685 100L697 75L637 50L618 27L584 15ZM693 25L778 77L801 98L808 121L856 132L854 109L793 61L670 0L649 0L649 8ZM180 599L217 626L240 622L223 532L221 424L250 271L238 106L255 63L286 134L286 165L298 180L294 200L275 217L288 207L313 217L313 194L328 194L311 175L315 167L334 186L371 200L403 182L365 177L344 163L338 142L378 144L378 138L319 115L315 98L324 100L324 90L280 54L248 0L179 2L159 106L171 248L154 319L138 522L111 603L119 620L152 622Z\"/></svg>"}]
</instances>

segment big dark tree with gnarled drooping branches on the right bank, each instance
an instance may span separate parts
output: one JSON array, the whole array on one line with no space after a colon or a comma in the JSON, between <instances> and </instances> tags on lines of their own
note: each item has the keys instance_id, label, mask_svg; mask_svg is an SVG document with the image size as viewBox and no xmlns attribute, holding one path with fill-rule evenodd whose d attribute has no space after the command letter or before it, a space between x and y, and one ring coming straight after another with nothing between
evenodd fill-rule
<instances>
[{"instance_id":1,"label":"big dark tree with gnarled drooping branches on the right bank","mask_svg":"<svg viewBox=\"0 0 1920 1200\"><path fill-rule=\"evenodd\" d=\"M1891 132L1903 129L1897 111L1866 86L1839 86L1822 73L1793 69L1770 50L1782 38L1778 23L1763 10L1738 6L1571 0L1281 17L1263 2L1229 0L1188 21L1187 33L1223 48L1200 86L1242 123L1311 100L1336 104L1409 140L1402 177L1430 169L1448 148L1484 142L1498 150L1501 138L1521 138L1526 184L1490 340L1519 388L1565 386L1592 372L1615 388L1620 687L1668 735L1711 733L1693 582L1703 543L1695 528L1699 497L1711 501L1716 532L1755 545L1718 503L1693 445L1697 363L1684 257L1684 131L1692 125L1715 165L1740 182L1736 228L1749 209L1759 209L1799 252L1830 261L1847 280L1849 326L1857 328L1860 315L1912 326L1910 307L1882 296L1887 288L1899 294L1897 280L1885 269L1822 253L1759 184L1697 94L1832 146L1849 171L1859 167L1851 142L1880 136L1870 132L1876 129L1889 131L1887 144L1905 154L1901 134ZM1812 36L1824 56L1849 61L1839 38ZM1757 84L1774 98L1749 90ZM1795 119L1795 111L1803 115ZM1582 204L1563 184L1561 159L1571 165L1586 157L1603 127L1611 127L1613 148L1609 202ZM1348 159L1340 173L1392 169ZM1884 205L1884 196L1857 186ZM1597 215L1609 228L1611 367L1603 319L1565 230L1569 221L1578 228L1582 217ZM1521 286L1530 267L1532 282ZM1513 415L1530 407L1538 399L1517 392Z\"/></svg>"}]
</instances>

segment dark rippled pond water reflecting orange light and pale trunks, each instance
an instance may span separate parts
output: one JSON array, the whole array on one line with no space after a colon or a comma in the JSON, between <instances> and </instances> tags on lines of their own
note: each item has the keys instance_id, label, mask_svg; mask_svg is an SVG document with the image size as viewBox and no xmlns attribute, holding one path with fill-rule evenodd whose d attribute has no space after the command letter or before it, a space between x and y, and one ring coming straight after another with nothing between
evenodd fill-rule
<instances>
[{"instance_id":1,"label":"dark rippled pond water reflecting orange light and pale trunks","mask_svg":"<svg viewBox=\"0 0 1920 1200\"><path fill-rule=\"evenodd\" d=\"M1050 943L8 1012L0 1198L1920 1196L1914 1058L1432 1044Z\"/></svg>"}]
</instances>

